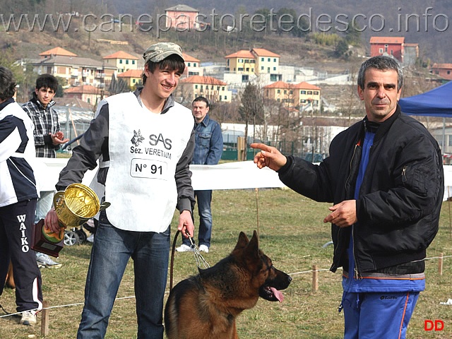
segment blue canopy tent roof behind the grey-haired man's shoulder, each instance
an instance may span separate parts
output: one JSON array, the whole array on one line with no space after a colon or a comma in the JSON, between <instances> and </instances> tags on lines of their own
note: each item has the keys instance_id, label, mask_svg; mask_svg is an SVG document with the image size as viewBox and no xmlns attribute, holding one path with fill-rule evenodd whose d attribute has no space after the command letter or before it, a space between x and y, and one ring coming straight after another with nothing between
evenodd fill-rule
<instances>
[{"instance_id":1,"label":"blue canopy tent roof behind the grey-haired man's shoulder","mask_svg":"<svg viewBox=\"0 0 452 339\"><path fill-rule=\"evenodd\" d=\"M452 81L428 92L398 101L403 113L429 117L452 117Z\"/></svg>"}]
</instances>

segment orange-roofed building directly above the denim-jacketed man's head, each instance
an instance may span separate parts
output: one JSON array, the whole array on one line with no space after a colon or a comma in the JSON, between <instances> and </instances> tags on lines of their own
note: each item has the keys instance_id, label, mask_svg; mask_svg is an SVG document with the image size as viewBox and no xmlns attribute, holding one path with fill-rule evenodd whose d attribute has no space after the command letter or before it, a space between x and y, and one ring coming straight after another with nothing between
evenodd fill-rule
<instances>
[{"instance_id":1,"label":"orange-roofed building directly above the denim-jacketed man's head","mask_svg":"<svg viewBox=\"0 0 452 339\"><path fill-rule=\"evenodd\" d=\"M206 97L210 102L231 102L232 92L227 83L211 76L189 76L179 81L176 96L191 104L195 97Z\"/></svg>"}]
</instances>

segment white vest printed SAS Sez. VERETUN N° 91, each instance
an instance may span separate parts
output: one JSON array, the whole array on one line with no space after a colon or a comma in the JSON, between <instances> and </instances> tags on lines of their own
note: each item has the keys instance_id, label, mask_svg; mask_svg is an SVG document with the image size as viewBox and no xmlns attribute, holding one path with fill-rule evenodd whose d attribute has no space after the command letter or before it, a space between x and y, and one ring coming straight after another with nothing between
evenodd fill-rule
<instances>
[{"instance_id":1,"label":"white vest printed SAS Sez. VERETUN N\u00b0 91","mask_svg":"<svg viewBox=\"0 0 452 339\"><path fill-rule=\"evenodd\" d=\"M177 204L174 174L194 126L191 111L174 103L165 114L141 107L136 95L107 97L109 222L121 230L164 232ZM100 167L105 164L100 164Z\"/></svg>"}]
</instances>

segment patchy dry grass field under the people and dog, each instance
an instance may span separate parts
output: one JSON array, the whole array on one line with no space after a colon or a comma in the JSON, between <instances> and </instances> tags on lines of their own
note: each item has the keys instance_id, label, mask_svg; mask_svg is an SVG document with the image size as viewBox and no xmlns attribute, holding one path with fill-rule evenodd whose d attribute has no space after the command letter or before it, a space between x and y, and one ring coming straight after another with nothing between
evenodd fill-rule
<instances>
[{"instance_id":1,"label":"patchy dry grass field under the people and dog","mask_svg":"<svg viewBox=\"0 0 452 339\"><path fill-rule=\"evenodd\" d=\"M210 265L232 251L240 231L251 236L258 228L261 249L277 268L293 278L283 291L283 303L260 299L254 309L239 316L240 338L342 338L343 314L337 310L342 294L340 270L328 271L333 247L323 247L330 240L330 225L322 222L328 204L315 203L288 189L251 189L214 191L212 207L213 243L210 253L204 255ZM452 299L452 258L447 257L452 255L451 213L451 206L445 202L439 234L427 251L427 288L420 295L407 338L452 338L452 306L440 304ZM172 230L174 236L174 222ZM46 338L76 338L90 249L90 244L66 246L58 259L63 263L61 268L41 270L44 299L52 307ZM441 253L446 257L443 275L438 273L437 257ZM313 265L320 270L316 292L312 291ZM175 254L174 284L196 271L193 254ZM117 297L120 299L114 304L106 338L136 338L132 263ZM0 304L9 312L15 311L13 290L4 291ZM443 331L424 331L424 321L436 319L444 321ZM18 325L13 316L0 318L0 338L42 338L40 324L41 316L33 327Z\"/></svg>"}]
</instances>

